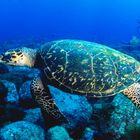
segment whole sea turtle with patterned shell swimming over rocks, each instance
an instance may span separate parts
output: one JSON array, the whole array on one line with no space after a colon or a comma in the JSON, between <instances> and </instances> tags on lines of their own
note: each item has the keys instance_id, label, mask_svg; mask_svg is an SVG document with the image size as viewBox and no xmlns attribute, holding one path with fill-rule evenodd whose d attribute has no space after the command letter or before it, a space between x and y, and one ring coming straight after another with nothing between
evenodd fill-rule
<instances>
[{"instance_id":1,"label":"whole sea turtle with patterned shell swimming over rocks","mask_svg":"<svg viewBox=\"0 0 140 140\"><path fill-rule=\"evenodd\" d=\"M46 121L67 120L51 97L48 85L86 97L108 97L122 92L140 108L140 63L98 43L57 40L38 49L17 48L0 55L0 62L41 70L31 84L33 98ZM48 122L48 121L47 121Z\"/></svg>"}]
</instances>

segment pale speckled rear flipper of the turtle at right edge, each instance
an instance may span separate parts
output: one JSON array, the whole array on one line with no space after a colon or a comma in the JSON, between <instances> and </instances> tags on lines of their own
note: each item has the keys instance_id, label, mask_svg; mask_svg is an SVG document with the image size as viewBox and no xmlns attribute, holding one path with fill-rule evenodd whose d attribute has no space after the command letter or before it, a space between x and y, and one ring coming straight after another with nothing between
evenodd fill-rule
<instances>
[{"instance_id":1,"label":"pale speckled rear flipper of the turtle at right edge","mask_svg":"<svg viewBox=\"0 0 140 140\"><path fill-rule=\"evenodd\" d=\"M134 83L123 91L135 105L140 109L140 84Z\"/></svg>"}]
</instances>

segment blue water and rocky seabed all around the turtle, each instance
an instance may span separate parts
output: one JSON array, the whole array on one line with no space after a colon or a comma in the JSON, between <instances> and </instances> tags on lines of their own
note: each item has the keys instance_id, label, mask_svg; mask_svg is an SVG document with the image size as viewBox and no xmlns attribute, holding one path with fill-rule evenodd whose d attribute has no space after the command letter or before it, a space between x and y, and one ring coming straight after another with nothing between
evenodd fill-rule
<instances>
[{"instance_id":1,"label":"blue water and rocky seabed all around the turtle","mask_svg":"<svg viewBox=\"0 0 140 140\"><path fill-rule=\"evenodd\" d=\"M0 52L57 39L105 44L140 61L140 1L0 0ZM39 73L0 64L0 140L140 140L140 111L121 93L87 100L50 87L70 125L46 130L30 93Z\"/></svg>"}]
</instances>

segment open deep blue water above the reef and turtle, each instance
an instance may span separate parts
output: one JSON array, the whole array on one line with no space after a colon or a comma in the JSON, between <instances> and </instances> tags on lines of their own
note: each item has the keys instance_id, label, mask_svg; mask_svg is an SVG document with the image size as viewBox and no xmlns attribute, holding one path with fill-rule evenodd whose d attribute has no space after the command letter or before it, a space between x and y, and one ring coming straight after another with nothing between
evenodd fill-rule
<instances>
[{"instance_id":1,"label":"open deep blue water above the reef and turtle","mask_svg":"<svg viewBox=\"0 0 140 140\"><path fill-rule=\"evenodd\" d=\"M0 0L0 40L119 43L137 35L140 0Z\"/></svg>"}]
</instances>

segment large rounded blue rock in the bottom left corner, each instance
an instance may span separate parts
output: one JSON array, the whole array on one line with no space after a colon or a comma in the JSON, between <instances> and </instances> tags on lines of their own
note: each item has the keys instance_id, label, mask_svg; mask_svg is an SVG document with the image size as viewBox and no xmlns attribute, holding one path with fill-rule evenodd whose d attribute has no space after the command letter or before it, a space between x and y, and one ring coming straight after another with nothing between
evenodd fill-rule
<instances>
[{"instance_id":1,"label":"large rounded blue rock in the bottom left corner","mask_svg":"<svg viewBox=\"0 0 140 140\"><path fill-rule=\"evenodd\" d=\"M44 130L32 123L18 121L0 130L2 140L45 140Z\"/></svg>"}]
</instances>

